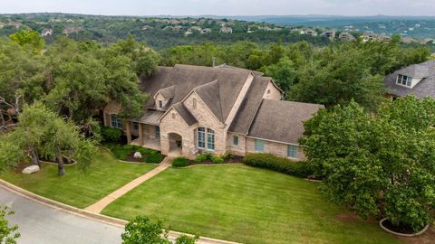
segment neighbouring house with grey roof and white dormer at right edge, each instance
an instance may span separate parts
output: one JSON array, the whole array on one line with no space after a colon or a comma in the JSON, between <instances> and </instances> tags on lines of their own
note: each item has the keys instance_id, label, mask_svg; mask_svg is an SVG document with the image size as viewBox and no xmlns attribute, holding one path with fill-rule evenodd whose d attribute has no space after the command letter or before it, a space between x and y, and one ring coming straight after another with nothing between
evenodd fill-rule
<instances>
[{"instance_id":1,"label":"neighbouring house with grey roof and white dormer at right edge","mask_svg":"<svg viewBox=\"0 0 435 244\"><path fill-rule=\"evenodd\" d=\"M420 99L435 98L435 61L413 64L388 75L384 80L389 98L414 94Z\"/></svg>"}]
</instances>

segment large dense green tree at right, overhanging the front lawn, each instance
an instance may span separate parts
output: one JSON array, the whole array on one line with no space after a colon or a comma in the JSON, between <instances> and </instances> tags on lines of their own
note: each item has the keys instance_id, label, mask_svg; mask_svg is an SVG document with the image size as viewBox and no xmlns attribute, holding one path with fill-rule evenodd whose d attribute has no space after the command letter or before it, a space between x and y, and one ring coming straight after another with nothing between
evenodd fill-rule
<instances>
[{"instance_id":1,"label":"large dense green tree at right, overhanging the front lawn","mask_svg":"<svg viewBox=\"0 0 435 244\"><path fill-rule=\"evenodd\" d=\"M385 102L375 116L351 101L320 111L300 142L333 202L420 230L435 209L434 118L433 99Z\"/></svg>"}]
</instances>

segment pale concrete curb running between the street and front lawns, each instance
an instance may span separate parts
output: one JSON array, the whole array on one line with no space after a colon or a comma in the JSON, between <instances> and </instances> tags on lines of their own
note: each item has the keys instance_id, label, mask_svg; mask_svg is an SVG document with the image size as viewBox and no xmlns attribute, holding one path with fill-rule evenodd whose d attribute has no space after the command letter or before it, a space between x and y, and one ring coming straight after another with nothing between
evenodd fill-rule
<instances>
[{"instance_id":1,"label":"pale concrete curb running between the street and front lawns","mask_svg":"<svg viewBox=\"0 0 435 244\"><path fill-rule=\"evenodd\" d=\"M128 223L128 221L124 221L121 219L102 215L102 214L95 213L92 211L85 211L85 210L64 204L62 202L56 202L54 200L51 200L51 199L45 198L43 196L40 196L38 194L35 194L34 192L29 192L27 190L24 190L23 188L18 187L12 183L8 183L2 179L0 179L0 187L4 188L5 190L7 190L9 192L14 192L14 193L24 197L25 199L30 200L30 201L43 204L44 206L53 208L53 209L58 210L58 211L65 211L65 212L71 213L73 215L80 216L82 218L86 218L86 219L89 219L92 221L102 222L104 224L109 224L111 226L115 226L115 227L122 228L122 229L124 229L125 225ZM187 235L187 236L193 237L193 235L188 234L188 233L183 233L183 232L173 231L173 230L169 231L169 239L173 239L173 240L177 239L180 235ZM197 244L240 244L240 243L234 242L234 241L223 240L223 239L212 239L212 238L207 238L207 237L200 237L197 241Z\"/></svg>"}]
</instances>

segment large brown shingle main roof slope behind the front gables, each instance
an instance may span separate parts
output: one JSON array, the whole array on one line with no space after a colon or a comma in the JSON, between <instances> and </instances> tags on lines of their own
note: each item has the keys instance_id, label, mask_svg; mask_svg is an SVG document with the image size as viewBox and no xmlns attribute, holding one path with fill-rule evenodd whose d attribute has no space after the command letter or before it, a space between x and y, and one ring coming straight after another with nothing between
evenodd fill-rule
<instances>
[{"instance_id":1,"label":"large brown shingle main roof slope behind the front gables","mask_svg":"<svg viewBox=\"0 0 435 244\"><path fill-rule=\"evenodd\" d=\"M225 122L237 95L251 73L251 70L244 69L177 64L174 67L159 67L152 77L141 79L140 87L142 91L154 95L160 89L175 86L171 104L179 103L196 89L198 96L208 104L221 122ZM208 85L203 86L206 84ZM219 101L220 108L215 99ZM146 103L146 108L153 108L154 104L155 100L151 98Z\"/></svg>"}]
</instances>

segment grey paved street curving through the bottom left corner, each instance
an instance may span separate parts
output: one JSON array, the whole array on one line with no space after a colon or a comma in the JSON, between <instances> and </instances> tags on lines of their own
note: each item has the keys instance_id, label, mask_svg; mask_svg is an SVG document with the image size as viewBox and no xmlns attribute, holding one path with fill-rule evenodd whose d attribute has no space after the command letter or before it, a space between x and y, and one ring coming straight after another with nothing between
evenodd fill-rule
<instances>
[{"instance_id":1,"label":"grey paved street curving through the bottom left corner","mask_svg":"<svg viewBox=\"0 0 435 244\"><path fill-rule=\"evenodd\" d=\"M15 212L7 219L18 225L18 244L121 243L121 228L55 210L3 188L0 205Z\"/></svg>"}]
</instances>

